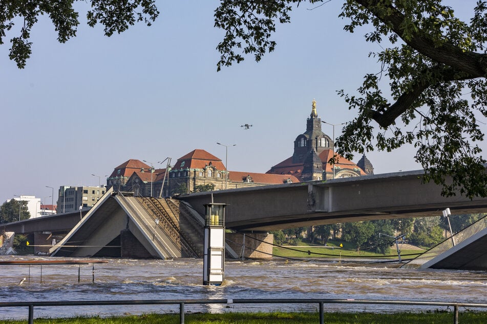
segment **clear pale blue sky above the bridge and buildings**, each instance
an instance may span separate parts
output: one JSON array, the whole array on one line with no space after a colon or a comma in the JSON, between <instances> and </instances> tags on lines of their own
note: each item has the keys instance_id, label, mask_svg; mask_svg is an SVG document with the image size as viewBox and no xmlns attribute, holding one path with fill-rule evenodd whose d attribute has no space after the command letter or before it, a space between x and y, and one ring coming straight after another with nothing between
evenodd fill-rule
<instances>
[{"instance_id":1,"label":"clear pale blue sky above the bridge and buildings","mask_svg":"<svg viewBox=\"0 0 487 324\"><path fill-rule=\"evenodd\" d=\"M474 3L454 8L468 12ZM313 99L322 120L353 119L336 91L354 94L365 74L377 73L380 66L368 54L381 48L364 40L369 28L343 30L341 1L314 10L302 3L291 24L278 25L274 52L221 72L218 4L157 1L161 13L151 27L138 24L108 38L102 27L86 25L88 4L77 3L77 36L58 43L52 23L41 17L23 70L8 58L14 35L8 33L0 45L0 201L35 195L50 203L49 186L55 203L59 186L98 186L98 176L104 184L131 158L161 168L158 161L166 157L174 164L203 149L225 163L225 147L217 142L229 146L230 171L264 173L292 155ZM244 124L253 126L245 130ZM333 127L322 129L332 136ZM334 127L335 137L340 132ZM414 154L405 147L367 157L380 174L421 169Z\"/></svg>"}]
</instances>

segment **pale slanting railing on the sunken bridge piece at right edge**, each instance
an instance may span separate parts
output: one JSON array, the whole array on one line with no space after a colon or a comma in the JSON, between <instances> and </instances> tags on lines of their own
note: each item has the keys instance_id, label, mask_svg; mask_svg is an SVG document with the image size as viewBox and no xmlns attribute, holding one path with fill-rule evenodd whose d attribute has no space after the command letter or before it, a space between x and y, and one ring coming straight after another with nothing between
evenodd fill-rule
<instances>
[{"instance_id":1,"label":"pale slanting railing on the sunken bridge piece at right edge","mask_svg":"<svg viewBox=\"0 0 487 324\"><path fill-rule=\"evenodd\" d=\"M487 216L463 228L462 230L460 230L460 232L455 233L453 236L447 238L443 242L433 246L426 252L422 253L420 256L417 256L416 258L401 266L401 268L418 268L421 265L424 265L425 263L438 257L440 254L448 251L453 246L458 245L459 243L471 238L477 233L480 233L485 228L487 228Z\"/></svg>"}]
</instances>

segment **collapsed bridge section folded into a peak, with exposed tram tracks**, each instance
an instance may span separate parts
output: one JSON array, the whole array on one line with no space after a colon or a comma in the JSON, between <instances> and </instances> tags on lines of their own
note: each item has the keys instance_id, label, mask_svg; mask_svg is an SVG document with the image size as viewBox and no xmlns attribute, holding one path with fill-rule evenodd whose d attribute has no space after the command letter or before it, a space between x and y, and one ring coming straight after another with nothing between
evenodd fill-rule
<instances>
[{"instance_id":1,"label":"collapsed bridge section folded into a peak, with exposed tram tracks","mask_svg":"<svg viewBox=\"0 0 487 324\"><path fill-rule=\"evenodd\" d=\"M203 227L204 220L185 203L110 189L50 252L57 257L198 258Z\"/></svg>"}]
</instances>

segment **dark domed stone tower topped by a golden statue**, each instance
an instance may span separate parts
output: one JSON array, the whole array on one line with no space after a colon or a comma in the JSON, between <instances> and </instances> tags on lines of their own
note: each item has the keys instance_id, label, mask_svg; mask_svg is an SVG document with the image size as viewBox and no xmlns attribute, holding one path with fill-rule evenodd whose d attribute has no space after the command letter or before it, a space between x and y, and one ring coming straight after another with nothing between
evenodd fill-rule
<instances>
[{"instance_id":1,"label":"dark domed stone tower topped by a golden statue","mask_svg":"<svg viewBox=\"0 0 487 324\"><path fill-rule=\"evenodd\" d=\"M333 140L321 130L321 118L316 112L316 101L313 99L311 113L306 121L306 132L294 140L292 163L303 163L308 152L314 149L317 155L333 147Z\"/></svg>"}]
</instances>

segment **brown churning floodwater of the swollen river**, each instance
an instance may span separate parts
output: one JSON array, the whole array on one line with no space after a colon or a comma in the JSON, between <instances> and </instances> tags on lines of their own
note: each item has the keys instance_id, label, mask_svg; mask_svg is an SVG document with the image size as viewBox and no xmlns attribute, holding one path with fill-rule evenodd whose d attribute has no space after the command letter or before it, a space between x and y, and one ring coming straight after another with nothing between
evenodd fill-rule
<instances>
[{"instance_id":1,"label":"brown churning floodwater of the swollen river","mask_svg":"<svg viewBox=\"0 0 487 324\"><path fill-rule=\"evenodd\" d=\"M0 260L51 258L0 256ZM52 258L60 260L60 258ZM67 258L67 260L73 260ZM203 286L203 261L104 259L77 265L2 265L0 302L48 300L337 298L487 303L487 272L397 269L391 263L331 260L226 261L225 282ZM42 271L42 273L41 273ZM30 277L29 277L30 272ZM40 276L42 274L42 277ZM26 281L20 282L26 277ZM187 312L314 311L305 304L186 305ZM420 311L445 308L325 304L325 311ZM484 309L485 310L485 309ZM178 312L178 305L35 307L35 317ZM460 309L462 311L462 309ZM26 318L28 309L0 308L0 319Z\"/></svg>"}]
</instances>

